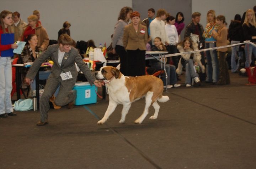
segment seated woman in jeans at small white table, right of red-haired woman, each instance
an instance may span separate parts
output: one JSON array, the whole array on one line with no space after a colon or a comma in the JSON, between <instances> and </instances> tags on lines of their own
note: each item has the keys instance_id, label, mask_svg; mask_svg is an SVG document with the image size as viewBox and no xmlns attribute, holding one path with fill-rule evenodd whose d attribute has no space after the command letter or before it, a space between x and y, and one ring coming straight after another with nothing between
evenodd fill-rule
<instances>
[{"instance_id":1,"label":"seated woman in jeans at small white table, right of red-haired woman","mask_svg":"<svg viewBox=\"0 0 256 169\"><path fill-rule=\"evenodd\" d=\"M166 47L161 41L160 37L156 37L154 39L154 44L151 48L151 51L166 51ZM167 59L165 59L167 61ZM157 59L149 59L149 65L151 68L154 69L161 69L161 62ZM172 87L180 87L180 84L177 84L177 77L176 77L176 72L175 72L175 66L170 65L170 64L165 64L165 69L167 72L167 88L172 88ZM164 76L162 77L162 81L164 82L164 85L166 85L166 78L165 78L165 73ZM166 86L164 86L165 88Z\"/></svg>"}]
</instances>

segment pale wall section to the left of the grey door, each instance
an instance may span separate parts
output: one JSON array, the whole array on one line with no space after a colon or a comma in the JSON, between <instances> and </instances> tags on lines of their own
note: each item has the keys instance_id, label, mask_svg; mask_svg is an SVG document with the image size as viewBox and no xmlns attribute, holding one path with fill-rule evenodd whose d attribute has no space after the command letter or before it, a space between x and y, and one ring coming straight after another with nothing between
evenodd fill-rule
<instances>
[{"instance_id":1,"label":"pale wall section to the left of the grey door","mask_svg":"<svg viewBox=\"0 0 256 169\"><path fill-rule=\"evenodd\" d=\"M70 35L75 41L93 39L96 46L104 42L110 45L124 6L132 7L132 0L0 0L0 11L18 11L25 22L34 10L39 10L50 39L57 40L59 29L69 21Z\"/></svg>"}]
</instances>

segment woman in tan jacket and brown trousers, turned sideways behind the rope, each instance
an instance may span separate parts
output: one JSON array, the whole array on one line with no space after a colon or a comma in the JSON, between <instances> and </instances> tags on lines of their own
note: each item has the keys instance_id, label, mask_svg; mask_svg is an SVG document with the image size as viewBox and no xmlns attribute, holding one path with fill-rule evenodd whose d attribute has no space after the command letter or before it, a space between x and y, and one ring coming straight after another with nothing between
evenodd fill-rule
<instances>
[{"instance_id":1,"label":"woman in tan jacket and brown trousers, turned sideways behind the rope","mask_svg":"<svg viewBox=\"0 0 256 169\"><path fill-rule=\"evenodd\" d=\"M218 33L212 30L212 36L217 40L216 46L227 45L228 29L226 27L225 17L223 15L217 16L217 24L219 25ZM228 63L226 63L226 51L228 48L217 49L219 59L219 81L216 84L225 85L230 84Z\"/></svg>"}]
</instances>

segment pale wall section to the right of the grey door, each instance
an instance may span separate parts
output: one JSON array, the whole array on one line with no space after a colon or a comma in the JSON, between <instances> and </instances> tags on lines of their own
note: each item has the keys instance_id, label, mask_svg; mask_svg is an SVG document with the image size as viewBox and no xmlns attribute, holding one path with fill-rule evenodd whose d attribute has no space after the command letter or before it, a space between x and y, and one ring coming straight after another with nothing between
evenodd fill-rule
<instances>
[{"instance_id":1,"label":"pale wall section to the right of the grey door","mask_svg":"<svg viewBox=\"0 0 256 169\"><path fill-rule=\"evenodd\" d=\"M216 17L224 15L228 25L234 19L235 14L240 14L241 17L247 9L252 9L256 5L255 0L192 0L192 13L200 12L200 23L205 28L206 15L209 10L214 10Z\"/></svg>"}]
</instances>

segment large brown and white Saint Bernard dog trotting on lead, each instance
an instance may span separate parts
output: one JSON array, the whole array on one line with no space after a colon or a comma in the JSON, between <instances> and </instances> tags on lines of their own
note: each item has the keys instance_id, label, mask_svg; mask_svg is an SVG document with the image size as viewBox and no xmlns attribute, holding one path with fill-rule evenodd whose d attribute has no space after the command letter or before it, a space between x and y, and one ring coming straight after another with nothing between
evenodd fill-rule
<instances>
[{"instance_id":1,"label":"large brown and white Saint Bernard dog trotting on lead","mask_svg":"<svg viewBox=\"0 0 256 169\"><path fill-rule=\"evenodd\" d=\"M151 105L154 107L155 113L149 119L156 119L160 108L157 101L164 103L169 100L168 96L162 96L164 90L162 80L152 75L127 77L117 68L103 66L100 71L95 72L95 77L97 80L105 82L109 95L107 111L104 117L98 121L98 124L105 123L118 104L123 105L119 123L124 123L131 104L143 97L145 97L146 100L144 112L134 122L137 124L142 123L144 118L148 115Z\"/></svg>"}]
</instances>

